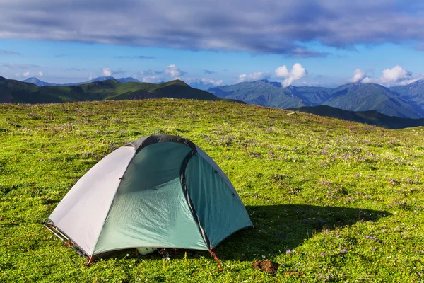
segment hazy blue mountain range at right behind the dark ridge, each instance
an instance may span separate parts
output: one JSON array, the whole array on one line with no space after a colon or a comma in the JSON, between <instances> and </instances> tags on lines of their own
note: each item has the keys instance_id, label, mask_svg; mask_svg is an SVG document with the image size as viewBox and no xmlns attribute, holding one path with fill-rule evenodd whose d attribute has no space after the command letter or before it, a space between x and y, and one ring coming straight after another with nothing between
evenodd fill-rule
<instances>
[{"instance_id":1,"label":"hazy blue mountain range at right behind the dark ridge","mask_svg":"<svg viewBox=\"0 0 424 283\"><path fill-rule=\"evenodd\" d=\"M398 93L374 83L348 83L337 88L288 86L267 80L237 83L208 89L221 98L276 108L329 105L351 111L377 110L385 115L418 119L424 108L404 100Z\"/></svg>"}]
</instances>

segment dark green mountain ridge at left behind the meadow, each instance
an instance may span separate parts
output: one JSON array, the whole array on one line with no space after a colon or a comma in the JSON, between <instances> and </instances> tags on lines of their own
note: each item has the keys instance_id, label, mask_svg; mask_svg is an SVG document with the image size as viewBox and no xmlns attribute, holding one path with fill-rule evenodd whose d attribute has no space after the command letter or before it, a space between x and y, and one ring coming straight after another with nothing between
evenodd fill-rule
<instances>
[{"instance_id":1,"label":"dark green mountain ridge at left behind the meadow","mask_svg":"<svg viewBox=\"0 0 424 283\"><path fill-rule=\"evenodd\" d=\"M36 86L33 83L15 80L0 81L0 103L62 103L146 98L228 100L191 88L179 80L167 83L121 83L116 79L108 79L78 86Z\"/></svg>"}]
</instances>

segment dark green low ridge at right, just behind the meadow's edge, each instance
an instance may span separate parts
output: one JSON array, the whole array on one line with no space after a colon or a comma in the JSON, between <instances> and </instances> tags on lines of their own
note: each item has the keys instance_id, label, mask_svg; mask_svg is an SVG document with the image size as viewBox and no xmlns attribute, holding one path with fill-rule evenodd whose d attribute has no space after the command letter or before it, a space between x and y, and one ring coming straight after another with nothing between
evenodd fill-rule
<instances>
[{"instance_id":1,"label":"dark green low ridge at right, just behind the meadow's edge","mask_svg":"<svg viewBox=\"0 0 424 283\"><path fill-rule=\"evenodd\" d=\"M408 119L381 114L375 110L370 111L348 111L327 105L306 106L290 108L289 110L306 112L314 115L338 118L368 125L375 125L388 129L403 129L407 127L424 126L424 119Z\"/></svg>"}]
</instances>

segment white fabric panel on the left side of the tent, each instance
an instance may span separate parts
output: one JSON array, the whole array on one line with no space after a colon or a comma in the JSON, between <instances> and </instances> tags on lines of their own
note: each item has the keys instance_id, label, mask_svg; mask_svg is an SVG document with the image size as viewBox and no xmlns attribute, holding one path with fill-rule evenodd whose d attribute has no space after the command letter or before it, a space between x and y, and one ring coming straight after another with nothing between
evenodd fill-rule
<instances>
[{"instance_id":1,"label":"white fabric panel on the left side of the tent","mask_svg":"<svg viewBox=\"0 0 424 283\"><path fill-rule=\"evenodd\" d=\"M122 146L95 164L49 216L88 255L93 249L134 147Z\"/></svg>"}]
</instances>

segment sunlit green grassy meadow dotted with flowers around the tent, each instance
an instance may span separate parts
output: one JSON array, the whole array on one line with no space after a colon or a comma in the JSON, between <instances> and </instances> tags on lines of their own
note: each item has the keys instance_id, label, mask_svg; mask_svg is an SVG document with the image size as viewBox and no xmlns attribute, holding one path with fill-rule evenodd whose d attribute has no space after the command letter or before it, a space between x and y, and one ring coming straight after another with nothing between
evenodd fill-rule
<instances>
[{"instance_id":1,"label":"sunlit green grassy meadow dotted with flowers around the tent","mask_svg":"<svg viewBox=\"0 0 424 283\"><path fill-rule=\"evenodd\" d=\"M423 282L424 128L287 113L172 99L0 105L0 282ZM39 223L103 156L158 132L204 149L258 229L216 248L223 272L185 250L83 267ZM276 275L252 268L264 258Z\"/></svg>"}]
</instances>

